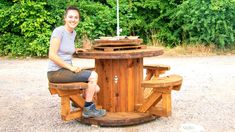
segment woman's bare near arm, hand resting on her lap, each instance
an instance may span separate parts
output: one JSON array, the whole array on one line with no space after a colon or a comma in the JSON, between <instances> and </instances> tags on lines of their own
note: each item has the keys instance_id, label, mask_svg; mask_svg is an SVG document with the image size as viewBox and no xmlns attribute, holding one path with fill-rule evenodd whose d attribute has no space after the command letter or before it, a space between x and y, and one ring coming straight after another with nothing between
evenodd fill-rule
<instances>
[{"instance_id":1,"label":"woman's bare near arm, hand resting on her lap","mask_svg":"<svg viewBox=\"0 0 235 132\"><path fill-rule=\"evenodd\" d=\"M60 67L66 68L73 72L79 72L81 69L79 67L74 67L65 61L63 61L57 54L60 47L60 39L59 38L53 38L51 40L51 45L49 48L49 59L52 60L54 63L59 65Z\"/></svg>"}]
</instances>

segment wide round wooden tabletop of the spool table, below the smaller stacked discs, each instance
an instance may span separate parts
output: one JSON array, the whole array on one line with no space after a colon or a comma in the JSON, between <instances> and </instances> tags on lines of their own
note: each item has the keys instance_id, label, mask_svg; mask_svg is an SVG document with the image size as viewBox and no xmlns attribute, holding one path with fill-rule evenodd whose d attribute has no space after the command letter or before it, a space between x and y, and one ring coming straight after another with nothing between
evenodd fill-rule
<instances>
[{"instance_id":1,"label":"wide round wooden tabletop of the spool table, below the smaller stacked discs","mask_svg":"<svg viewBox=\"0 0 235 132\"><path fill-rule=\"evenodd\" d=\"M76 58L86 59L130 59L143 58L162 55L163 49L157 47L147 47L145 49L117 50L117 51L100 51L88 50L74 54Z\"/></svg>"}]
</instances>

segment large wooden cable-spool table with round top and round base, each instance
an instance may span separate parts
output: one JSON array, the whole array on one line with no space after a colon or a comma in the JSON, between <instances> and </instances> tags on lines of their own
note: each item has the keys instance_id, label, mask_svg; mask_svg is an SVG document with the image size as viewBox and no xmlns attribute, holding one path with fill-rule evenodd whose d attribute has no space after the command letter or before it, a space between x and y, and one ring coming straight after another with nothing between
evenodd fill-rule
<instances>
[{"instance_id":1,"label":"large wooden cable-spool table with round top and round base","mask_svg":"<svg viewBox=\"0 0 235 132\"><path fill-rule=\"evenodd\" d=\"M136 112L143 103L143 58L163 54L161 48L134 50L79 52L74 57L95 59L100 92L97 104L108 111L103 118L89 118L82 122L100 126L133 125L156 119L148 113Z\"/></svg>"}]
</instances>

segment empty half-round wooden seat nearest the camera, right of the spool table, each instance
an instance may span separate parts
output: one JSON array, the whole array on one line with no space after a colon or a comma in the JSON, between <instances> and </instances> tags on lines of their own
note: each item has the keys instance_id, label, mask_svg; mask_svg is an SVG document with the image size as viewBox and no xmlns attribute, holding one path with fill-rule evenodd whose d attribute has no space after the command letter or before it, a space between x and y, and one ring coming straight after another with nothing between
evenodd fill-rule
<instances>
[{"instance_id":1,"label":"empty half-round wooden seat nearest the camera, right of the spool table","mask_svg":"<svg viewBox=\"0 0 235 132\"><path fill-rule=\"evenodd\" d=\"M150 112L156 116L171 115L171 91L180 90L183 78L179 75L169 75L155 80L145 80L141 86L152 88L152 93L138 108L139 112Z\"/></svg>"}]
</instances>

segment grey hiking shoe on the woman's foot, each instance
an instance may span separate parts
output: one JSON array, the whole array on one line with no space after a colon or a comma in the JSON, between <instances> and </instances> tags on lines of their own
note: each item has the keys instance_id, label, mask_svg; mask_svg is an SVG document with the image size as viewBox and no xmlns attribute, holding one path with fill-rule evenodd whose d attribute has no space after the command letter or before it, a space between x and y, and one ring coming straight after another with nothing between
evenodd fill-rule
<instances>
[{"instance_id":1,"label":"grey hiking shoe on the woman's foot","mask_svg":"<svg viewBox=\"0 0 235 132\"><path fill-rule=\"evenodd\" d=\"M83 108L82 116L84 118L90 117L102 117L106 115L106 110L104 109L96 109L95 104L92 104L88 107Z\"/></svg>"}]
</instances>

